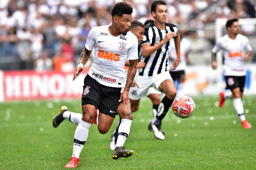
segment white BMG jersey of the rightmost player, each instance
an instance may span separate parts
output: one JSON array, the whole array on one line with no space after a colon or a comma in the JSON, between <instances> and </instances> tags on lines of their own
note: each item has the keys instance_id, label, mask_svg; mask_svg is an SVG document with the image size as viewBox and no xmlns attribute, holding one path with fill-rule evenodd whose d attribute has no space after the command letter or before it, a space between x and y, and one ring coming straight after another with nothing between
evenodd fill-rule
<instances>
[{"instance_id":1,"label":"white BMG jersey of the rightmost player","mask_svg":"<svg viewBox=\"0 0 256 170\"><path fill-rule=\"evenodd\" d=\"M238 34L233 40L225 35L217 41L212 52L217 53L221 49L224 55L224 75L244 76L243 56L246 52L252 51L247 37Z\"/></svg>"}]
</instances>

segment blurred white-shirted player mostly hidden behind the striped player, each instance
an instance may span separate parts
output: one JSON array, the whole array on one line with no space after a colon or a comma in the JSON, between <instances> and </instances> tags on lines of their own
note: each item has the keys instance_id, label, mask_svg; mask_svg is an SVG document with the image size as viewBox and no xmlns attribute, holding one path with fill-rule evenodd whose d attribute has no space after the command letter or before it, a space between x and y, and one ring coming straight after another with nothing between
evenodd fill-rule
<instances>
[{"instance_id":1,"label":"blurred white-shirted player mostly hidden behind the striped player","mask_svg":"<svg viewBox=\"0 0 256 170\"><path fill-rule=\"evenodd\" d=\"M184 81L185 81L185 69L187 67L186 62L188 61L188 53L190 50L190 42L188 39L184 38L184 32L179 31L180 36L181 36L181 49L180 49L180 54L181 54L181 59L179 62L179 66L176 67L175 70L169 70L171 77L173 81L178 81L178 91L177 91L177 96L184 95L183 89L184 89ZM172 41L170 48L169 48L169 66L172 66L172 61L175 60L177 57L176 54L176 49L175 49L175 43Z\"/></svg>"}]
</instances>

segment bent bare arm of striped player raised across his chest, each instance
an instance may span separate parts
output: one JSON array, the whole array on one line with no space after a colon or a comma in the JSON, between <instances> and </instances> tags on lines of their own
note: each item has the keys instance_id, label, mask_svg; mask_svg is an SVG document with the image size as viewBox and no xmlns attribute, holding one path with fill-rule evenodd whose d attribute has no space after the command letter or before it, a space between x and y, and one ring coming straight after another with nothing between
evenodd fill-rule
<instances>
[{"instance_id":1,"label":"bent bare arm of striped player raised across his chest","mask_svg":"<svg viewBox=\"0 0 256 170\"><path fill-rule=\"evenodd\" d=\"M170 41L170 39L172 37L175 37L175 32L167 33L162 41L160 41L159 43L157 43L157 44L155 44L153 46L151 46L150 43L143 44L141 46L141 49L142 49L141 54L142 54L142 56L144 58L147 58L148 56L153 54L155 51L157 51L159 48L161 48L163 46L163 44L165 44L168 41Z\"/></svg>"}]
</instances>

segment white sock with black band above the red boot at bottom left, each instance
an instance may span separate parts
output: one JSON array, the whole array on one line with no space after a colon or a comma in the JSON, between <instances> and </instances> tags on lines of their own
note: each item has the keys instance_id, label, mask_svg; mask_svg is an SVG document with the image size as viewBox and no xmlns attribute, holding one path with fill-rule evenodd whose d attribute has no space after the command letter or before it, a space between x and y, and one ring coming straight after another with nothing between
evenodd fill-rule
<instances>
[{"instance_id":1,"label":"white sock with black band above the red boot at bottom left","mask_svg":"<svg viewBox=\"0 0 256 170\"><path fill-rule=\"evenodd\" d=\"M80 155L80 153L84 147L84 144L87 140L89 128L91 126L92 126L92 124L89 124L89 123L81 120L81 122L76 127L75 135L74 135L74 145L73 145L72 157L79 158L79 155Z\"/></svg>"}]
</instances>

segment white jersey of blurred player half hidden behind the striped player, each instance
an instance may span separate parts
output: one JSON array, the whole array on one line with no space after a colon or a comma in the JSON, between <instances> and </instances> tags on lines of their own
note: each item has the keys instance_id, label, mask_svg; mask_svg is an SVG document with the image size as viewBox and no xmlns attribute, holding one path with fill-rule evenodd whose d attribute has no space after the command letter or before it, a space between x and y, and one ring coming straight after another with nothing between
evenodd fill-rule
<instances>
[{"instance_id":1,"label":"white jersey of blurred player half hidden behind the striped player","mask_svg":"<svg viewBox=\"0 0 256 170\"><path fill-rule=\"evenodd\" d=\"M176 67L175 70L170 70L170 71L181 71L181 70L186 69L186 66L187 66L186 54L188 53L189 50L190 50L189 40L182 38L181 39L181 48L180 48L181 58L180 58L179 66ZM176 49L175 49L175 43L174 43L174 41L172 41L171 45L169 47L169 67L172 66L173 60L175 60L176 58L177 58L177 54L176 54Z\"/></svg>"}]
</instances>

